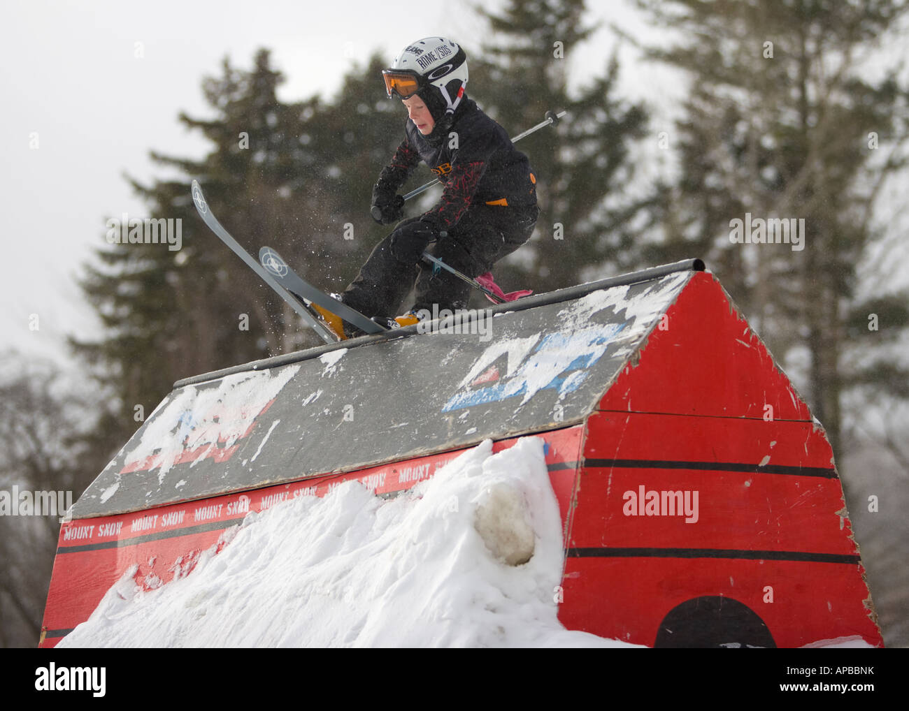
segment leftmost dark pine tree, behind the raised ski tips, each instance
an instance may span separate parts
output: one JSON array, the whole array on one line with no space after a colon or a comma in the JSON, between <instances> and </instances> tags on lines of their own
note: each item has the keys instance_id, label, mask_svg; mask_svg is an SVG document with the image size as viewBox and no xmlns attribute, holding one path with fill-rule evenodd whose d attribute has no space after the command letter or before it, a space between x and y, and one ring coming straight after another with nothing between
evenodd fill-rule
<instances>
[{"instance_id":1,"label":"leftmost dark pine tree, behind the raised ski tips","mask_svg":"<svg viewBox=\"0 0 909 711\"><path fill-rule=\"evenodd\" d=\"M215 118L180 115L214 144L212 151L201 161L152 153L185 177L148 186L132 181L151 217L181 222L180 248L106 244L97 252L100 265L86 267L83 289L106 332L101 341L74 340L73 347L116 398L96 446L122 444L175 380L292 350L288 345L298 342L288 338L295 324L287 319L285 326L283 302L205 227L189 191L197 178L227 229L251 252L259 243L292 239L297 220L317 201L305 174L322 158L301 138L319 102L282 104L275 95L281 81L265 50L249 72L225 60L223 75L204 83ZM107 242L112 230L119 240L116 223L107 226Z\"/></svg>"}]
</instances>

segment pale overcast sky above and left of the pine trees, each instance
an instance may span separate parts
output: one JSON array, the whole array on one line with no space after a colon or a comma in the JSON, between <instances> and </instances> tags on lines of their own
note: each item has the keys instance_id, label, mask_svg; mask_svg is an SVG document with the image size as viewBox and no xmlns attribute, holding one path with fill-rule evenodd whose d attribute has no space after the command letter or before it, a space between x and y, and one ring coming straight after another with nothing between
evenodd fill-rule
<instances>
[{"instance_id":1,"label":"pale overcast sky above and left of the pine trees","mask_svg":"<svg viewBox=\"0 0 909 711\"><path fill-rule=\"evenodd\" d=\"M624 2L591 5L591 21L618 19L632 28L640 22ZM419 37L448 35L468 52L478 47L484 23L464 4L415 6L386 0L6 0L0 10L7 267L0 280L0 350L65 360L65 334L98 333L75 278L104 244L108 217L150 216L125 173L143 183L164 175L149 160L150 150L205 153L208 144L187 133L177 114L207 115L201 81L219 73L225 55L249 68L257 48L271 49L287 77L281 98L292 101L331 96L335 81L355 63L365 64L376 50L391 62ZM604 29L567 58L580 75L584 67L598 73L613 44ZM632 87L640 86L635 76Z\"/></svg>"}]
</instances>

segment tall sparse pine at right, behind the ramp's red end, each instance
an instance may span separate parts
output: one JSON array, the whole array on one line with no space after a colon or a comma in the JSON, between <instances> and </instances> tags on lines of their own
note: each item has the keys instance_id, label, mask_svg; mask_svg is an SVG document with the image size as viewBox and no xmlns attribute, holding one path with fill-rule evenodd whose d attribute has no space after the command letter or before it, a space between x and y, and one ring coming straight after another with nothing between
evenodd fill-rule
<instances>
[{"instance_id":1,"label":"tall sparse pine at right, behind the ramp's red end","mask_svg":"<svg viewBox=\"0 0 909 711\"><path fill-rule=\"evenodd\" d=\"M857 303L856 265L882 237L874 216L882 182L904 167L906 91L894 73L874 79L862 54L904 16L901 3L839 0L640 0L677 33L650 53L692 79L677 126L681 175L664 213L668 239L651 254L697 253L778 357L807 354L807 397L834 452L841 400L850 385L898 381L854 360L850 337L867 349L868 314L887 313L887 335L909 321L895 294ZM880 151L870 135L879 136ZM804 220L804 242L731 242L753 219ZM795 222L798 226L799 222Z\"/></svg>"}]
</instances>

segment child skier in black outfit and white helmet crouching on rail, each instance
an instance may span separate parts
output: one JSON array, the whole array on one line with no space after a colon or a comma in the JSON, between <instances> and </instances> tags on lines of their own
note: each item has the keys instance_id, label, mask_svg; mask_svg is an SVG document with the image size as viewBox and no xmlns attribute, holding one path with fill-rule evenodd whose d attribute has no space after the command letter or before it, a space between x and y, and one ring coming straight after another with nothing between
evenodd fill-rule
<instances>
[{"instance_id":1,"label":"child skier in black outfit and white helmet crouching on rail","mask_svg":"<svg viewBox=\"0 0 909 711\"><path fill-rule=\"evenodd\" d=\"M410 322L422 310L464 309L470 285L451 272L435 271L421 255L476 277L514 252L534 231L536 178L524 153L502 126L464 94L467 58L443 37L408 44L383 71L388 97L405 105L405 139L373 188L372 213L382 224L404 216L397 194L422 160L444 184L432 210L398 222L379 242L341 301L375 321L391 321L416 282ZM345 325L347 335L360 331Z\"/></svg>"}]
</instances>

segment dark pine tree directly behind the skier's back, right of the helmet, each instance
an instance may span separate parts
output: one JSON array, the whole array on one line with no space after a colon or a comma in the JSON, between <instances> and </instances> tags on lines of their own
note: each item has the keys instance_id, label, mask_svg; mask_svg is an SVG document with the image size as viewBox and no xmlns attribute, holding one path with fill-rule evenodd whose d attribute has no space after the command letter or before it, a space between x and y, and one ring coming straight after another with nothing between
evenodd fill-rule
<instances>
[{"instance_id":1,"label":"dark pine tree directly behind the skier's back, right of the helmet","mask_svg":"<svg viewBox=\"0 0 909 711\"><path fill-rule=\"evenodd\" d=\"M514 286L550 291L638 266L636 243L653 198L625 186L646 113L616 96L614 58L590 84L569 87L572 52L594 31L584 26L583 0L512 0L484 17L494 41L469 58L468 94L511 135L548 110L567 111L554 129L518 144L538 176L542 213L531 242L507 261L511 269L496 272Z\"/></svg>"}]
</instances>

